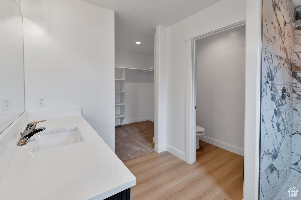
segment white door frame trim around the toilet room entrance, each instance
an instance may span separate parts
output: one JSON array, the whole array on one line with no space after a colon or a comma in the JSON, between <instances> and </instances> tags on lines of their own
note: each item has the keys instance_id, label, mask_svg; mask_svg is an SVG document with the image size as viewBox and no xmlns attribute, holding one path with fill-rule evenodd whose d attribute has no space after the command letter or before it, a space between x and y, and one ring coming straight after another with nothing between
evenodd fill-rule
<instances>
[{"instance_id":1,"label":"white door frame trim around the toilet room entrance","mask_svg":"<svg viewBox=\"0 0 301 200\"><path fill-rule=\"evenodd\" d=\"M246 25L246 20L227 25L216 30L190 38L187 41L187 68L186 68L186 162L196 161L196 42L223 31ZM190 59L189 59L190 58Z\"/></svg>"}]
</instances>

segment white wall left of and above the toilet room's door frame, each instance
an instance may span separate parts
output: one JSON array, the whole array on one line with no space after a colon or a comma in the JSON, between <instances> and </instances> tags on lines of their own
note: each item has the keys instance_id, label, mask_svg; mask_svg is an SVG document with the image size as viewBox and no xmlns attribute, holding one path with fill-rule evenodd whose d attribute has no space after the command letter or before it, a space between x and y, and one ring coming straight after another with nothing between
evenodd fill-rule
<instances>
[{"instance_id":1,"label":"white wall left of and above the toilet room's door frame","mask_svg":"<svg viewBox=\"0 0 301 200\"><path fill-rule=\"evenodd\" d=\"M166 143L178 151L185 152L187 64L185 32L201 25L206 28L205 25L214 20L219 20L219 24L222 24L223 16L231 16L237 10L242 10L242 17L245 19L245 9L246 1L222 0L167 28Z\"/></svg>"}]
</instances>

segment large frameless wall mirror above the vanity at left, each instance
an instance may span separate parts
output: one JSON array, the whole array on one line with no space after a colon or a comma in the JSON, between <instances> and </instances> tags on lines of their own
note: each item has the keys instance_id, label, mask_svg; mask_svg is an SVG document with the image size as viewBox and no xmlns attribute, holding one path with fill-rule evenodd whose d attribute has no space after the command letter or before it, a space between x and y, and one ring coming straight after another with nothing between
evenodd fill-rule
<instances>
[{"instance_id":1,"label":"large frameless wall mirror above the vanity at left","mask_svg":"<svg viewBox=\"0 0 301 200\"><path fill-rule=\"evenodd\" d=\"M0 6L0 133L25 111L23 19L15 0Z\"/></svg>"}]
</instances>

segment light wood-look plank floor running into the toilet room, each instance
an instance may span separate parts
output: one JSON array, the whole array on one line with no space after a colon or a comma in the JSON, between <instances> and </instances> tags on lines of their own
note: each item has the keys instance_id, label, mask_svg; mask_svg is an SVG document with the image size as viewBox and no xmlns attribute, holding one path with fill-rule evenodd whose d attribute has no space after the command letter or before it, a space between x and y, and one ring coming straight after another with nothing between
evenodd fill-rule
<instances>
[{"instance_id":1,"label":"light wood-look plank floor running into the toilet room","mask_svg":"<svg viewBox=\"0 0 301 200\"><path fill-rule=\"evenodd\" d=\"M203 141L192 165L167 151L124 164L137 179L131 199L243 199L244 157Z\"/></svg>"}]
</instances>

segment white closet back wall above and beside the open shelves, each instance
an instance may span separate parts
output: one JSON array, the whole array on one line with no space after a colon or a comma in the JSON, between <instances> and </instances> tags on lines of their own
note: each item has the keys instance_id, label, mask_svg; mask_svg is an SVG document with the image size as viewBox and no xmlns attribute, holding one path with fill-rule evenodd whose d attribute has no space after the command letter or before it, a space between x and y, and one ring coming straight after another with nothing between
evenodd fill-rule
<instances>
[{"instance_id":1,"label":"white closet back wall above and beside the open shelves","mask_svg":"<svg viewBox=\"0 0 301 200\"><path fill-rule=\"evenodd\" d=\"M115 66L149 69L154 67L154 53L115 49ZM122 124L154 121L154 72L126 69L125 118Z\"/></svg>"}]
</instances>

